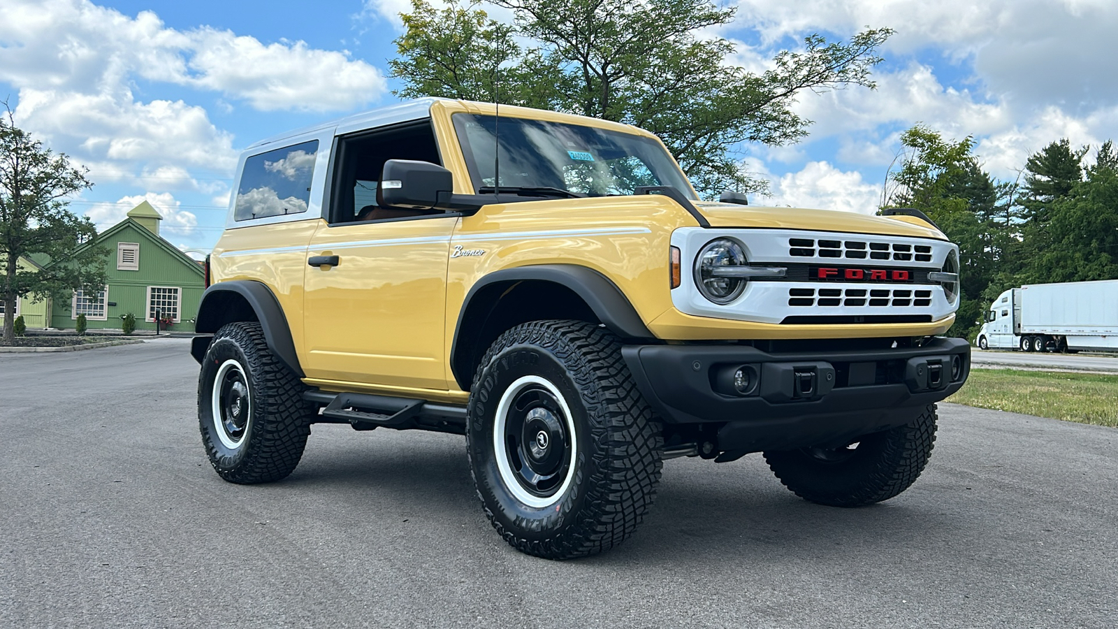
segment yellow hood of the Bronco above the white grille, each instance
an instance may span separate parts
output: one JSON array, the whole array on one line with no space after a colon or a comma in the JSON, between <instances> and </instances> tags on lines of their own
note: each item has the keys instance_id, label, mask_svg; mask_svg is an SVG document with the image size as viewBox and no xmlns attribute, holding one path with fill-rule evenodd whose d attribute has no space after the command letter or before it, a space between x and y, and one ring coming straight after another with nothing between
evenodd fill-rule
<instances>
[{"instance_id":1,"label":"yellow hood of the Bronco above the white grille","mask_svg":"<svg viewBox=\"0 0 1118 629\"><path fill-rule=\"evenodd\" d=\"M868 216L833 209L759 207L697 201L711 227L773 227L852 234L880 234L946 241L942 232L913 216Z\"/></svg>"}]
</instances>

